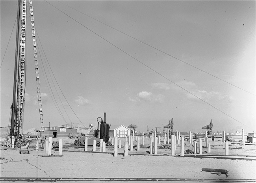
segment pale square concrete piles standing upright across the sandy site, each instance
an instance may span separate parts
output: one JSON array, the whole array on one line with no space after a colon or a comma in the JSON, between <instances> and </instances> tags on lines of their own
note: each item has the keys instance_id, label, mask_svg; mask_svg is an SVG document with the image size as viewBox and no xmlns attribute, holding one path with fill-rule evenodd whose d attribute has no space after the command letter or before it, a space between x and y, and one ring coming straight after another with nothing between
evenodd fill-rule
<instances>
[{"instance_id":1,"label":"pale square concrete piles standing upright across the sandy site","mask_svg":"<svg viewBox=\"0 0 256 183\"><path fill-rule=\"evenodd\" d=\"M243 133L243 145L244 143L244 130L242 129ZM175 156L175 150L177 149L177 144L180 144L180 156L184 156L185 151L185 140L184 137L180 136L180 132L176 132L176 136L171 135L171 139L168 138L169 134L167 133L167 136L165 134L165 137L163 138L163 143L170 143L171 141L171 156ZM144 132L142 134L142 145L145 145L145 137ZM161 144L160 142L160 136L156 136L156 131L154 132L153 136L150 137L150 154L158 154L158 144ZM225 140L225 131L222 131L222 142L225 143L225 155L228 156L228 141ZM140 150L140 137L139 136L129 136L129 138L126 136L125 143L124 143L124 156L128 156L128 147L130 146L130 151L133 150L133 141L137 141L137 151ZM121 139L115 137L114 139L111 139L111 143L114 144L114 156L117 156L117 150L121 149ZM194 145L194 154L202 154L202 138L198 138L197 141L193 142L193 134L190 131L189 132L189 143L191 145ZM205 143L206 147L208 148L208 152L211 152L211 144L208 143L208 136L207 131L205 131ZM59 139L59 156L62 156L62 139ZM36 150L39 150L39 143L38 139L36 141ZM88 150L88 139L85 137L85 147L84 151ZM93 141L93 152L96 151L96 140ZM100 152L106 152L106 143L103 141L103 139L100 139ZM45 140L45 153L48 154L48 156L51 156L52 154L52 137L49 137L48 140Z\"/></svg>"}]
</instances>

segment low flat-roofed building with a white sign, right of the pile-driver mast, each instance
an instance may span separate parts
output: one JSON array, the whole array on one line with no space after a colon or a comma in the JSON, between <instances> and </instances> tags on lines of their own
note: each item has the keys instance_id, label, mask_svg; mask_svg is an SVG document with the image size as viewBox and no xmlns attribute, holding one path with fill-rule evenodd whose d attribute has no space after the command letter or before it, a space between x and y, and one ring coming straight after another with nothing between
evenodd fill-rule
<instances>
[{"instance_id":1,"label":"low flat-roofed building with a white sign, right of the pile-driver mast","mask_svg":"<svg viewBox=\"0 0 256 183\"><path fill-rule=\"evenodd\" d=\"M69 133L77 133L76 128L69 127L45 127L46 137L68 137Z\"/></svg>"}]
</instances>

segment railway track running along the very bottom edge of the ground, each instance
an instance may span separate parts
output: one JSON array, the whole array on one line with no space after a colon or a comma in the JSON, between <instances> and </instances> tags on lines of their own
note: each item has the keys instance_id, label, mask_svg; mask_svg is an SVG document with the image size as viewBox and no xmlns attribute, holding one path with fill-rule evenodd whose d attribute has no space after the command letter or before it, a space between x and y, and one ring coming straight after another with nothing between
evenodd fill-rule
<instances>
[{"instance_id":1,"label":"railway track running along the very bottom edge of the ground","mask_svg":"<svg viewBox=\"0 0 256 183\"><path fill-rule=\"evenodd\" d=\"M189 179L189 178L15 178L2 177L0 182L65 182L65 181L87 181L87 182L101 182L101 181L135 181L135 182L150 182L150 181L169 181L169 182L255 182L256 179Z\"/></svg>"}]
</instances>

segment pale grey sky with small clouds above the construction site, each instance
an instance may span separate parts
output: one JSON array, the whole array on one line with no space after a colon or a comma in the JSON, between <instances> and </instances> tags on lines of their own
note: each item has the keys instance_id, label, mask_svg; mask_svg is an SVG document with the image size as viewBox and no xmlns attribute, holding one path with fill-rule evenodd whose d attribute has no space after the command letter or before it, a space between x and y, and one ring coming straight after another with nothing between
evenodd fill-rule
<instances>
[{"instance_id":1,"label":"pale grey sky with small clouds above the construction site","mask_svg":"<svg viewBox=\"0 0 256 183\"><path fill-rule=\"evenodd\" d=\"M0 5L3 127L12 103L17 1ZM110 125L139 131L171 118L179 131L202 132L210 120L216 132L255 131L255 10L255 1L34 0L45 126L96 127L106 112ZM30 19L26 37L24 130L40 128Z\"/></svg>"}]
</instances>

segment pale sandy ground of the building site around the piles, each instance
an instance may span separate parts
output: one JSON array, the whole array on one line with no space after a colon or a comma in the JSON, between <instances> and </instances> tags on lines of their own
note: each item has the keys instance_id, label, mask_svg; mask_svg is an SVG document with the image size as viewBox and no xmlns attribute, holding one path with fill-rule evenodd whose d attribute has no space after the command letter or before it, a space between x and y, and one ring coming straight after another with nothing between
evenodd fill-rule
<instances>
[{"instance_id":1,"label":"pale sandy ground of the building site around the piles","mask_svg":"<svg viewBox=\"0 0 256 183\"><path fill-rule=\"evenodd\" d=\"M216 141L217 140L217 141ZM211 143L211 153L206 155L224 155L224 143L221 139L215 139ZM57 138L54 141L58 141ZM63 139L63 145L71 145L74 139ZM122 140L122 145L124 140ZM134 141L134 145L137 144ZM145 145L149 144L149 138L145 139ZM33 145L33 144L32 144ZM203 146L205 143L203 142ZM193 146L185 141L185 149L193 150ZM242 149L239 149L242 148ZM215 159L215 158L193 158L193 157L174 157L170 156L171 150L159 145L158 154L148 154L149 148L141 148L139 151L133 149L124 157L119 154L113 157L109 153L84 152L83 148L63 148L63 156L42 157L43 149L36 151L30 147L30 154L19 154L19 148L10 149L0 148L0 177L45 177L45 178L206 178L206 179L256 179L256 146L255 145L236 145L229 146L229 157L252 158L245 159ZM72 152L78 151L78 152ZM80 152L79 152L80 151ZM96 147L96 152L99 152ZM113 152L113 147L106 147L106 152ZM119 149L123 153L124 149ZM53 155L59 155L57 150L52 150ZM180 154L180 145L177 145L176 155ZM168 156L167 156L168 155ZM254 157L251 157L254 156ZM221 156L226 157L226 156ZM202 172L202 168L226 169L226 175L210 174Z\"/></svg>"}]
</instances>

